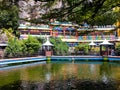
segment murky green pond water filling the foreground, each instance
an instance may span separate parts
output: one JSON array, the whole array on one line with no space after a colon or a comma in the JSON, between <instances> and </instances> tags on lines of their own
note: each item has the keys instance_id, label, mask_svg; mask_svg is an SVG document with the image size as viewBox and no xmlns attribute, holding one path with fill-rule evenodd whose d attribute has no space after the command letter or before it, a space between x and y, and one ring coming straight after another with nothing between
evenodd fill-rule
<instances>
[{"instance_id":1,"label":"murky green pond water filling the foreground","mask_svg":"<svg viewBox=\"0 0 120 90\"><path fill-rule=\"evenodd\" d=\"M1 67L0 90L120 90L120 63L56 61Z\"/></svg>"}]
</instances>

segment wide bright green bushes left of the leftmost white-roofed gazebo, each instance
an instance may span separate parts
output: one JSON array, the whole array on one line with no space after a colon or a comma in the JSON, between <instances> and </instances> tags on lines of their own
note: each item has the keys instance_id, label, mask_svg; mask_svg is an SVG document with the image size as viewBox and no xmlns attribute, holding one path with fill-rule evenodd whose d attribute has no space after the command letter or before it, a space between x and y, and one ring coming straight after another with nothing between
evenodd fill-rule
<instances>
[{"instance_id":1,"label":"wide bright green bushes left of the leftmost white-roofed gazebo","mask_svg":"<svg viewBox=\"0 0 120 90\"><path fill-rule=\"evenodd\" d=\"M5 50L6 57L31 56L38 53L41 44L35 37L28 37L26 40L10 38Z\"/></svg>"}]
</instances>

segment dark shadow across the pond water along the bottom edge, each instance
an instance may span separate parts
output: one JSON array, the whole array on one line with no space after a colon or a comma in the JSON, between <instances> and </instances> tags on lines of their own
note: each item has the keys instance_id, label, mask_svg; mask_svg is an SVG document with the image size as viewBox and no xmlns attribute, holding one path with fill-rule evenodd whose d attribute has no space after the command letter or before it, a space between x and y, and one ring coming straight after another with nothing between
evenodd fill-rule
<instances>
[{"instance_id":1,"label":"dark shadow across the pond water along the bottom edge","mask_svg":"<svg viewBox=\"0 0 120 90\"><path fill-rule=\"evenodd\" d=\"M52 80L45 82L18 81L0 87L0 90L119 90L114 80L93 81L90 79L70 78L68 80Z\"/></svg>"}]
</instances>

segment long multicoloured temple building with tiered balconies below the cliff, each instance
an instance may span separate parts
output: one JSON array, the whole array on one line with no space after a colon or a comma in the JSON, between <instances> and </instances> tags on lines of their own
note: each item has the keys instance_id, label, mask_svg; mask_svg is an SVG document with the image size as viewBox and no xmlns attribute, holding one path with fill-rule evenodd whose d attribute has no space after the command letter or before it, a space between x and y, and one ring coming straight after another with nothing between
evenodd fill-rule
<instances>
[{"instance_id":1,"label":"long multicoloured temple building with tiered balconies below the cliff","mask_svg":"<svg viewBox=\"0 0 120 90\"><path fill-rule=\"evenodd\" d=\"M119 30L117 31L113 25L91 27L86 23L79 26L72 22L55 21L48 25L26 26L22 24L18 29L21 33L21 39L27 38L28 35L60 37L69 46L75 46L78 43L90 43L91 40L99 44L104 39L114 43L119 41L120 37Z\"/></svg>"}]
</instances>

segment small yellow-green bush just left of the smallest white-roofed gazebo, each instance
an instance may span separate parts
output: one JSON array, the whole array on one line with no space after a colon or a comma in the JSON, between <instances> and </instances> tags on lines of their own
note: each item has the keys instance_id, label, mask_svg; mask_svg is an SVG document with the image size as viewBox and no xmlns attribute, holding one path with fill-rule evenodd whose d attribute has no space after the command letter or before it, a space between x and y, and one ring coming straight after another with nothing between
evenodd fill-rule
<instances>
[{"instance_id":1,"label":"small yellow-green bush just left of the smallest white-roofed gazebo","mask_svg":"<svg viewBox=\"0 0 120 90\"><path fill-rule=\"evenodd\" d=\"M88 48L88 44L79 44L78 46L75 46L75 52L84 51L84 54L88 54Z\"/></svg>"}]
</instances>

